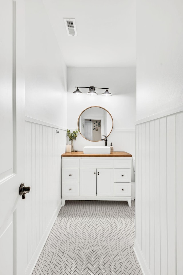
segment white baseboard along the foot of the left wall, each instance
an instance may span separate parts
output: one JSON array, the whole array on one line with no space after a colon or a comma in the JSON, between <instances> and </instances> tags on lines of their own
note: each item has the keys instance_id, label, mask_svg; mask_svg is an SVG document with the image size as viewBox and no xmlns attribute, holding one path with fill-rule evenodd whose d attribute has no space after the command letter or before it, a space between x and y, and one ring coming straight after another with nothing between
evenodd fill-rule
<instances>
[{"instance_id":1,"label":"white baseboard along the foot of the left wall","mask_svg":"<svg viewBox=\"0 0 183 275\"><path fill-rule=\"evenodd\" d=\"M35 268L35 265L37 264L39 256L40 256L40 254L43 250L43 247L44 247L44 245L47 241L49 233L50 233L50 231L53 227L53 224L54 224L54 222L55 222L55 220L58 216L58 213L59 213L60 209L61 209L61 202L59 203L59 205L55 209L55 212L53 213L53 216L52 216L52 218L51 218L51 220L50 220L50 222L49 222L49 224L48 224L48 226L45 230L45 233L43 234L43 237L41 238L41 240L40 240L40 242L39 242L39 244L38 244L38 246L37 246L30 262L29 262L29 265L27 266L27 269L25 270L25 275L32 275L32 272Z\"/></svg>"}]
</instances>

